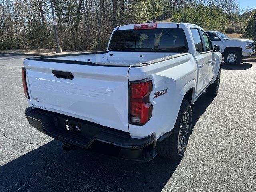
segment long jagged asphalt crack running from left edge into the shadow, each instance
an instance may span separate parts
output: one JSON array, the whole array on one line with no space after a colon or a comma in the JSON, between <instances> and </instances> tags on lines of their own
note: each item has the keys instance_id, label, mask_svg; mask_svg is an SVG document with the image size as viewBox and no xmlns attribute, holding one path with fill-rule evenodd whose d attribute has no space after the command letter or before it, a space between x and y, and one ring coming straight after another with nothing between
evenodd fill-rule
<instances>
[{"instance_id":1,"label":"long jagged asphalt crack running from left edge into the shadow","mask_svg":"<svg viewBox=\"0 0 256 192\"><path fill-rule=\"evenodd\" d=\"M4 135L4 137L7 138L7 139L20 141L20 142L25 143L25 144L36 145L36 146L42 147L42 148L44 148L44 150L46 150L46 148L45 148L44 146L40 146L40 145L37 144L37 143L25 142L25 141L23 141L23 140L21 140L21 139L10 138L10 137L6 136L6 133L3 132L3 131L0 131L0 133L2 133L2 134ZM76 172L76 171L72 171L72 170L70 170L69 168L66 168L65 166L58 165L54 160L48 158L43 152L41 152L41 151L38 149L38 147L36 148L36 149L38 150L38 152L39 152L46 160L48 160L49 162L51 162L54 167L62 168L62 169L64 169L64 170L66 170L66 171L68 171L68 172L71 172L71 173L74 173L74 174L85 175L85 176L87 176L88 178L90 178L90 179L92 179L92 180L96 180L96 178L92 177L91 175L86 174L85 172Z\"/></svg>"}]
</instances>

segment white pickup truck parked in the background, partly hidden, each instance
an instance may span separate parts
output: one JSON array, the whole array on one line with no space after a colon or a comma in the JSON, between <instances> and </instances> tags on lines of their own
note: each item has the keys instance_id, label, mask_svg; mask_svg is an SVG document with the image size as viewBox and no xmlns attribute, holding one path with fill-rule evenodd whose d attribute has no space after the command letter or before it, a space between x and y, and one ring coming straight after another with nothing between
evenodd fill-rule
<instances>
[{"instance_id":1,"label":"white pickup truck parked in the background, partly hidden","mask_svg":"<svg viewBox=\"0 0 256 192\"><path fill-rule=\"evenodd\" d=\"M242 58L250 58L255 54L254 41L249 39L231 39L218 31L206 31L210 40L220 46L226 64L240 64Z\"/></svg>"}]
</instances>

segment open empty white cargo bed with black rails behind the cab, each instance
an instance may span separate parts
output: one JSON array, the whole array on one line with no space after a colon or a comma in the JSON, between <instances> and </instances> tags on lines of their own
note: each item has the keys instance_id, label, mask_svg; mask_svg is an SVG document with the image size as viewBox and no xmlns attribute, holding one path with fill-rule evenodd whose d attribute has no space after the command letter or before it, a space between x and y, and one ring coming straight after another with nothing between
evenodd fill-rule
<instances>
[{"instance_id":1,"label":"open empty white cargo bed with black rails behind the cab","mask_svg":"<svg viewBox=\"0 0 256 192\"><path fill-rule=\"evenodd\" d=\"M28 60L58 62L67 64L98 66L142 66L161 60L171 59L188 53L172 52L86 52L78 54L61 54L54 56L29 57Z\"/></svg>"}]
</instances>

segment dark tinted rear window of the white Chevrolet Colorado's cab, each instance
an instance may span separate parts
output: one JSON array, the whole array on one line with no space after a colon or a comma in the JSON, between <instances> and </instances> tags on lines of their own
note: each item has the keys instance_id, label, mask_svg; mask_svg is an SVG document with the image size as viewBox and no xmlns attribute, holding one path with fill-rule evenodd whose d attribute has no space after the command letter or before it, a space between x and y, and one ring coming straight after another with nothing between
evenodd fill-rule
<instances>
[{"instance_id":1,"label":"dark tinted rear window of the white Chevrolet Colorado's cab","mask_svg":"<svg viewBox=\"0 0 256 192\"><path fill-rule=\"evenodd\" d=\"M188 52L183 29L118 30L110 41L112 51Z\"/></svg>"}]
</instances>

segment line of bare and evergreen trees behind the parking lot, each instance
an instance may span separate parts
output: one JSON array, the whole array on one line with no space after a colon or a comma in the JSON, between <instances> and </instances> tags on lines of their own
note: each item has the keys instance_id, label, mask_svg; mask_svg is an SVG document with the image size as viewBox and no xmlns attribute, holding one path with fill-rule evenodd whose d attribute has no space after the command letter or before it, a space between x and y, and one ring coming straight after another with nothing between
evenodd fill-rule
<instances>
[{"instance_id":1,"label":"line of bare and evergreen trees behind the parking lot","mask_svg":"<svg viewBox=\"0 0 256 192\"><path fill-rule=\"evenodd\" d=\"M50 0L0 1L0 49L56 46ZM146 22L146 10L149 20L222 32L242 30L246 20L237 0L53 0L53 6L64 50L103 50L114 27Z\"/></svg>"}]
</instances>

